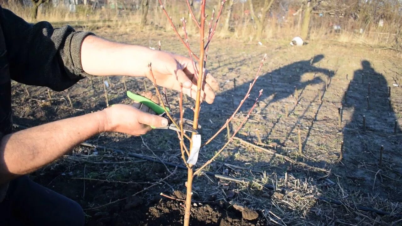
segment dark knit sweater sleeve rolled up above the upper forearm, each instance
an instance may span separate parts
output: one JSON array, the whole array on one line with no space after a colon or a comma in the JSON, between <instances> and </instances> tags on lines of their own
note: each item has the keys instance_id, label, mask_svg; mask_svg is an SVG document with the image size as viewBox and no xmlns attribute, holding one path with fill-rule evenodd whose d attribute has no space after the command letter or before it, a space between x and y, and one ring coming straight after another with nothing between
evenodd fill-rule
<instances>
[{"instance_id":1,"label":"dark knit sweater sleeve rolled up above the upper forearm","mask_svg":"<svg viewBox=\"0 0 402 226\"><path fill-rule=\"evenodd\" d=\"M30 24L0 7L11 79L61 91L90 76L82 69L81 44L89 32L48 22Z\"/></svg>"}]
</instances>

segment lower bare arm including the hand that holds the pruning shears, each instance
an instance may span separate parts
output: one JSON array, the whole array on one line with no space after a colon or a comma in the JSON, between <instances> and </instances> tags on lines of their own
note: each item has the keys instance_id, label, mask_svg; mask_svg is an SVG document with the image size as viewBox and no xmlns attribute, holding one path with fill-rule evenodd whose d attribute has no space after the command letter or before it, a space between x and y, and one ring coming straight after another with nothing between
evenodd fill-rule
<instances>
[{"instance_id":1,"label":"lower bare arm including the hand that holds the pruning shears","mask_svg":"<svg viewBox=\"0 0 402 226\"><path fill-rule=\"evenodd\" d=\"M31 173L66 154L74 146L103 131L139 136L167 121L129 105L114 105L103 111L24 129L0 141L0 185Z\"/></svg>"}]
</instances>

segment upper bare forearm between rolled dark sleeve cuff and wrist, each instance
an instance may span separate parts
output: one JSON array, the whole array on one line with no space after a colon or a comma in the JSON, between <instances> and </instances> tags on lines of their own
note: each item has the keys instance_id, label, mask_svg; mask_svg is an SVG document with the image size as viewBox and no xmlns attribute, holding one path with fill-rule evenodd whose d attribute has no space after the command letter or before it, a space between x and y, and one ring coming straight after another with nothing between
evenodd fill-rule
<instances>
[{"instance_id":1,"label":"upper bare forearm between rolled dark sleeve cuff and wrist","mask_svg":"<svg viewBox=\"0 0 402 226\"><path fill-rule=\"evenodd\" d=\"M154 50L88 36L81 46L83 70L96 76L145 76Z\"/></svg>"}]
</instances>

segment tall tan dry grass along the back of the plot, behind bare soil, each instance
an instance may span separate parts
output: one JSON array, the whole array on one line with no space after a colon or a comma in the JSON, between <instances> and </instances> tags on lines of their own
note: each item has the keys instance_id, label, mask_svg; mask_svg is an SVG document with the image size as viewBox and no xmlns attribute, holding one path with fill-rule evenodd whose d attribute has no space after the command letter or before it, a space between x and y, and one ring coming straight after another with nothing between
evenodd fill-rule
<instances>
[{"instance_id":1,"label":"tall tan dry grass along the back of the plot, behind bare soil","mask_svg":"<svg viewBox=\"0 0 402 226\"><path fill-rule=\"evenodd\" d=\"M148 27L146 29L166 29L170 30L170 24L164 18L164 15L159 7L155 6L154 2L150 3L150 9L148 12ZM212 5L212 4L211 4ZM165 8L170 12L172 21L177 22L176 27L181 27L180 18L187 18L188 10L183 8L185 4L167 4ZM241 12L241 4L234 5L234 11L232 21L230 24L230 31L219 31L219 36L236 39L242 39L244 41L254 40L254 34L256 33L256 25L250 15L244 15ZM33 22L30 19L29 7L21 7L16 4L3 5L4 8L9 8L17 15ZM181 8L180 8L181 7ZM215 6L216 8L217 6ZM68 12L64 7L47 7L42 6L38 12L37 21L49 21L54 23L55 26L61 26L66 23L71 25L80 25L84 29L94 29L99 27L119 27L121 29L127 29L127 27L133 27L133 25L139 24L141 12L140 10L120 10L118 13L113 9L102 8L92 10L90 6L78 5L75 13ZM213 6L206 9L206 13L211 15ZM195 14L197 14L197 10ZM196 15L197 16L197 15ZM221 18L221 24L224 23L225 14ZM274 12L271 16L267 17L265 23L265 30L263 32L263 40L256 41L273 41L283 40L289 41L291 38L300 34L301 23L299 22L299 15L285 15L285 18L278 16L278 13ZM187 19L191 21L191 19ZM371 47L391 47L398 49L396 39L400 36L398 31L400 30L401 18L395 18L394 21L385 21L384 27L378 27L377 24L369 24L363 26L363 23L359 20L353 20L350 18L338 18L338 17L319 17L317 14L313 15L310 40L334 40L344 43L359 43L363 45L369 45ZM340 25L342 31L335 33L332 26ZM187 28L189 35L195 34L197 31L195 27ZM359 33L359 30L363 28L365 32ZM180 29L181 30L181 29Z\"/></svg>"}]
</instances>

